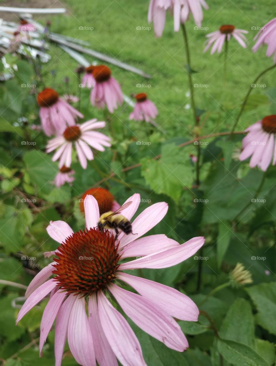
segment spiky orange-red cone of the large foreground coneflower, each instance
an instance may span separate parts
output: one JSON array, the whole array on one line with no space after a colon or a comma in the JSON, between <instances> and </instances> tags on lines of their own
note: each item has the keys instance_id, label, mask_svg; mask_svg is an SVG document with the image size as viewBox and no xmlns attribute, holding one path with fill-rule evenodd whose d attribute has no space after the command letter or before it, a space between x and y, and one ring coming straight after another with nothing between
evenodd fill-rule
<instances>
[{"instance_id":1,"label":"spiky orange-red cone of the large foreground coneflower","mask_svg":"<svg viewBox=\"0 0 276 366\"><path fill-rule=\"evenodd\" d=\"M67 294L87 296L105 290L119 267L120 255L114 236L94 228L66 238L56 255L53 274Z\"/></svg>"}]
</instances>

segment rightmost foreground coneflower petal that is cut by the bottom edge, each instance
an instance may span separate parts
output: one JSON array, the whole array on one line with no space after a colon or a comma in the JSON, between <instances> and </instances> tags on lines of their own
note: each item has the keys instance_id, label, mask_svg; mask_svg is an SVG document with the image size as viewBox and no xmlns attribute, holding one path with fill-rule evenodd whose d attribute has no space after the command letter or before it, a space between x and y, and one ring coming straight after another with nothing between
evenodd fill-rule
<instances>
[{"instance_id":1,"label":"rightmost foreground coneflower petal that is cut by the bottom edge","mask_svg":"<svg viewBox=\"0 0 276 366\"><path fill-rule=\"evenodd\" d=\"M140 343L122 314L98 292L98 311L102 329L116 357L124 366L146 366Z\"/></svg>"}]
</instances>

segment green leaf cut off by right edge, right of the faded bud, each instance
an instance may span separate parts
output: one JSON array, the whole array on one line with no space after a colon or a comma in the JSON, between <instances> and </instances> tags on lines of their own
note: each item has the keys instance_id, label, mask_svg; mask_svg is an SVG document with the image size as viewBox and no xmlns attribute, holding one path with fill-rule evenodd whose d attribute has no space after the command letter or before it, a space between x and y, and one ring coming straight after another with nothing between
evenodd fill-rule
<instances>
[{"instance_id":1,"label":"green leaf cut off by right edge, right of the faded bud","mask_svg":"<svg viewBox=\"0 0 276 366\"><path fill-rule=\"evenodd\" d=\"M245 290L257 307L258 324L276 334L276 283L262 283Z\"/></svg>"}]
</instances>

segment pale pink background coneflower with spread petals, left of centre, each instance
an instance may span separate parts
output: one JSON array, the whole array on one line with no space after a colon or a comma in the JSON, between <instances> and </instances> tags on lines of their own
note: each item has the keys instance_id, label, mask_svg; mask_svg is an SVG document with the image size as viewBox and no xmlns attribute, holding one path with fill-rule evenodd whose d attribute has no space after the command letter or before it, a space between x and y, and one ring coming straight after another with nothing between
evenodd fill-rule
<instances>
[{"instance_id":1,"label":"pale pink background coneflower with spread petals, left of centre","mask_svg":"<svg viewBox=\"0 0 276 366\"><path fill-rule=\"evenodd\" d=\"M93 152L90 148L104 151L104 146L111 146L110 138L98 131L93 131L95 128L102 128L105 122L98 121L94 118L81 125L68 126L64 130L62 136L51 139L46 147L46 152L59 148L54 154L52 161L59 159L59 168L65 165L70 167L72 161L72 147L75 143L75 149L81 166L83 169L87 167L87 160L93 160Z\"/></svg>"}]
</instances>

